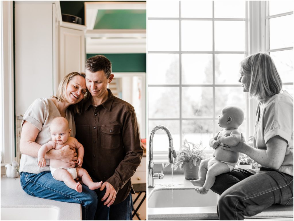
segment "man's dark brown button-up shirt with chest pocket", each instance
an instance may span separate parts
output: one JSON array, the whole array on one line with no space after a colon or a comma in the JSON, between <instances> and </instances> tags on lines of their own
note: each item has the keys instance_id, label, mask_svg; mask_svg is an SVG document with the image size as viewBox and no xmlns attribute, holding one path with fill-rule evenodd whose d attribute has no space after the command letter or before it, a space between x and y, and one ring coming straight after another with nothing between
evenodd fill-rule
<instances>
[{"instance_id":1,"label":"man's dark brown button-up shirt with chest pocket","mask_svg":"<svg viewBox=\"0 0 294 221\"><path fill-rule=\"evenodd\" d=\"M131 177L139 166L143 148L134 107L109 89L108 98L95 107L83 104L81 115L74 116L76 139L83 145L83 168L97 182L109 182L117 192L115 202L122 202L130 191Z\"/></svg>"}]
</instances>

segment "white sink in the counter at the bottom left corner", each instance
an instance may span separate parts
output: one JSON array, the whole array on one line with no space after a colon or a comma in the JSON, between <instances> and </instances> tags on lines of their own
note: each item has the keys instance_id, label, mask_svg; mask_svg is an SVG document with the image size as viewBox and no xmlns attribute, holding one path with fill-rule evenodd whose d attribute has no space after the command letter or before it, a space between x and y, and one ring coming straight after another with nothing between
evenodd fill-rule
<instances>
[{"instance_id":1,"label":"white sink in the counter at the bottom left corner","mask_svg":"<svg viewBox=\"0 0 294 221\"><path fill-rule=\"evenodd\" d=\"M58 220L58 215L53 207L1 207L1 220Z\"/></svg>"}]
</instances>

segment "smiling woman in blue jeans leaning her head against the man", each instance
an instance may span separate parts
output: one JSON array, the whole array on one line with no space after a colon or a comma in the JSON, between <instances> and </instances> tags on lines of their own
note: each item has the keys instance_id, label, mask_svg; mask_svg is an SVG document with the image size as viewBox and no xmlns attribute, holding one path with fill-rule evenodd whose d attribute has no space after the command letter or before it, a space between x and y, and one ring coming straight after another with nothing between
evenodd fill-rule
<instances>
[{"instance_id":1,"label":"smiling woman in blue jeans leaning her head against the man","mask_svg":"<svg viewBox=\"0 0 294 221\"><path fill-rule=\"evenodd\" d=\"M22 155L19 172L21 187L27 194L57 201L79 203L82 206L83 220L93 220L97 201L98 204L101 202L97 199L97 194L87 186L83 186L83 192L78 193L74 189L68 188L64 182L53 179L50 173L49 159L59 159L76 164L77 157L74 147L66 145L59 150L48 151L45 155L46 166L44 167L38 166L37 158L40 147L51 140L49 126L54 118L66 118L72 132L71 136L75 136L74 117L69 107L78 113L77 104L86 93L84 73L72 72L66 75L60 83L56 96L39 98L31 104L21 123L20 151Z\"/></svg>"}]
</instances>

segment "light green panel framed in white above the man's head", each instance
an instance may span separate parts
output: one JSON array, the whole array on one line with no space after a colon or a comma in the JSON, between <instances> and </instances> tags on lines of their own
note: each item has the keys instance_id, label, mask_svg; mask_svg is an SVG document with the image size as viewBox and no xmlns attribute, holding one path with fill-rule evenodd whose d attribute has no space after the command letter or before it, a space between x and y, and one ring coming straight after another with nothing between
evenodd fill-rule
<instances>
[{"instance_id":1,"label":"light green panel framed in white above the man's head","mask_svg":"<svg viewBox=\"0 0 294 221\"><path fill-rule=\"evenodd\" d=\"M94 29L146 29L146 10L98 10Z\"/></svg>"}]
</instances>

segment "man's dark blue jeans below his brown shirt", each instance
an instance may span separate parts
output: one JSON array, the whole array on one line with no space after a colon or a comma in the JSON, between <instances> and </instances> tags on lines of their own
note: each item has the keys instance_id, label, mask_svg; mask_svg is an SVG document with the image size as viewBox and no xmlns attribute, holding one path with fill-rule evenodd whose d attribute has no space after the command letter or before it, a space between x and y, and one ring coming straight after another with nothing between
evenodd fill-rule
<instances>
[{"instance_id":1,"label":"man's dark blue jeans below his brown shirt","mask_svg":"<svg viewBox=\"0 0 294 221\"><path fill-rule=\"evenodd\" d=\"M96 192L98 192L97 190ZM116 205L111 205L108 208L108 216L104 217L104 220L133 220L132 212L133 212L133 199L132 193L128 195L128 197L123 201ZM99 216L101 211L97 207L95 220L99 220Z\"/></svg>"}]
</instances>

